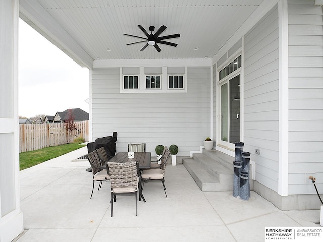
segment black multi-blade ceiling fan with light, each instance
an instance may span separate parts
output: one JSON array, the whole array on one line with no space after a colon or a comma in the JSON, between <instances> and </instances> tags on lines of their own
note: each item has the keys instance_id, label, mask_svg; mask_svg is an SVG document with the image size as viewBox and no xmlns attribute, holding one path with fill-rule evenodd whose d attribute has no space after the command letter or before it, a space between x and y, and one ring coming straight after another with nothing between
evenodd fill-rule
<instances>
[{"instance_id":1,"label":"black multi-blade ceiling fan with light","mask_svg":"<svg viewBox=\"0 0 323 242\"><path fill-rule=\"evenodd\" d=\"M149 27L149 31L151 32L151 34L148 34L148 32L141 25L138 25L138 27L142 30L142 32L144 32L144 34L147 36L147 38L140 37L140 36L135 36L135 35L131 35L131 34L124 34L124 35L131 36L131 37L145 39L143 41L134 42L134 43L130 43L130 44L127 44L127 45L147 42L142 47L142 49L140 51L143 51L148 45L153 45L158 52L161 51L161 49L159 48L158 44L166 44L166 45L170 45L170 46L174 46L174 47L177 46L177 44L171 43L171 42L168 42L168 41L164 41L164 39L179 38L180 37L180 34L171 34L171 35L165 35L165 36L159 37L159 35L166 30L167 27L165 25L162 25L154 34L152 34L152 32L155 31L155 27L154 26L150 26Z\"/></svg>"}]
</instances>

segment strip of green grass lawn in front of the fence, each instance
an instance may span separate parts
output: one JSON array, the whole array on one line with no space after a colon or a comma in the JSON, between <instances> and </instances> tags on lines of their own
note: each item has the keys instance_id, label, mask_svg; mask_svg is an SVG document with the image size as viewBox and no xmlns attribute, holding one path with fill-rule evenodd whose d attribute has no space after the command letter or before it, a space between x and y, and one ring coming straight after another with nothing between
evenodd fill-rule
<instances>
[{"instance_id":1,"label":"strip of green grass lawn in front of the fence","mask_svg":"<svg viewBox=\"0 0 323 242\"><path fill-rule=\"evenodd\" d=\"M71 143L65 145L46 147L40 150L28 151L19 154L20 170L27 169L31 166L40 164L46 160L64 155L73 150L77 150L86 145L80 143ZM75 157L78 158L78 157Z\"/></svg>"}]
</instances>

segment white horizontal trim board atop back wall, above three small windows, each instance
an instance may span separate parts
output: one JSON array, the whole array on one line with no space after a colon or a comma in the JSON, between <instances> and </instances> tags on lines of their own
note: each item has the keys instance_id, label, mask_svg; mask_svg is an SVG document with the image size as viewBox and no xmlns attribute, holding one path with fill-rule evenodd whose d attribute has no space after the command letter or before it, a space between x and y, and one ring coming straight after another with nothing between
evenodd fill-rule
<instances>
[{"instance_id":1,"label":"white horizontal trim board atop back wall, above three small windows","mask_svg":"<svg viewBox=\"0 0 323 242\"><path fill-rule=\"evenodd\" d=\"M96 59L93 68L106 67L210 67L211 58L203 59Z\"/></svg>"}]
</instances>

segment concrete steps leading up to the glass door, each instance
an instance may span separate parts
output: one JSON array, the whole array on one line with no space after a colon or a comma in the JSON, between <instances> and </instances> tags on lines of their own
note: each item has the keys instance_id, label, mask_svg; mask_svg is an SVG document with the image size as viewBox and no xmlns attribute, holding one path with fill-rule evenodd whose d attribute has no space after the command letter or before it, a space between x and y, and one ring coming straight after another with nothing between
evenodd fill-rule
<instances>
[{"instance_id":1,"label":"concrete steps leading up to the glass door","mask_svg":"<svg viewBox=\"0 0 323 242\"><path fill-rule=\"evenodd\" d=\"M233 169L204 154L183 159L183 165L202 191L232 191Z\"/></svg>"}]
</instances>

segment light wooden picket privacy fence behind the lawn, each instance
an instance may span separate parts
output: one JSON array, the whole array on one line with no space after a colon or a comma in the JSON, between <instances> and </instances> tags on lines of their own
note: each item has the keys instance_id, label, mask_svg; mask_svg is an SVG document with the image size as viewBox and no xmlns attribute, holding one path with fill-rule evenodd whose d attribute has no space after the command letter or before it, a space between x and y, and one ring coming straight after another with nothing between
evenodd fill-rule
<instances>
[{"instance_id":1,"label":"light wooden picket privacy fence behind the lawn","mask_svg":"<svg viewBox=\"0 0 323 242\"><path fill-rule=\"evenodd\" d=\"M72 134L75 138L83 137L89 141L89 127L87 121L75 122L76 129ZM19 125L19 149L21 152L39 150L44 147L70 143L70 134L64 123L56 124L21 124Z\"/></svg>"}]
</instances>

